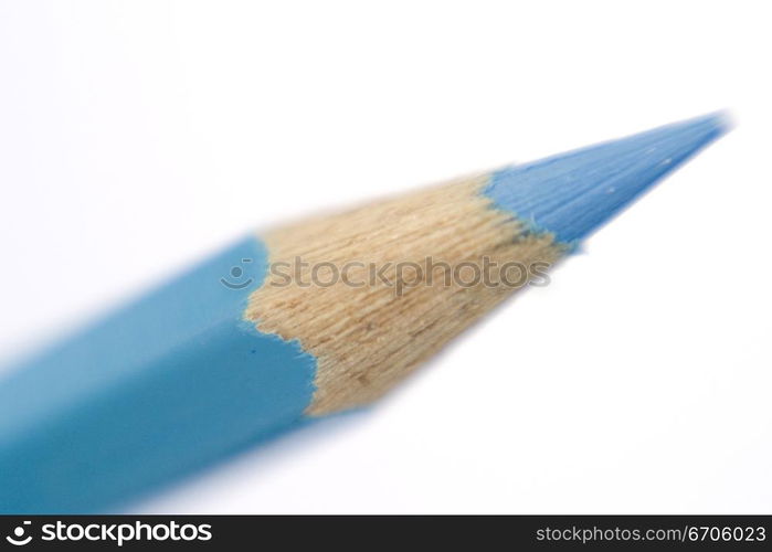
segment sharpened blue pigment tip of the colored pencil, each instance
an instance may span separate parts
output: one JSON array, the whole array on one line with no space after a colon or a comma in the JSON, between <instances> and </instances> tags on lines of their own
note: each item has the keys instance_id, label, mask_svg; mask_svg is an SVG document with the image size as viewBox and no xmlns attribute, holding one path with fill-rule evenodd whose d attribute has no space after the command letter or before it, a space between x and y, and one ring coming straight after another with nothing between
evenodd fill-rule
<instances>
[{"instance_id":1,"label":"sharpened blue pigment tip of the colored pencil","mask_svg":"<svg viewBox=\"0 0 772 552\"><path fill-rule=\"evenodd\" d=\"M483 191L531 230L573 244L727 129L710 115L616 141L507 167Z\"/></svg>"}]
</instances>

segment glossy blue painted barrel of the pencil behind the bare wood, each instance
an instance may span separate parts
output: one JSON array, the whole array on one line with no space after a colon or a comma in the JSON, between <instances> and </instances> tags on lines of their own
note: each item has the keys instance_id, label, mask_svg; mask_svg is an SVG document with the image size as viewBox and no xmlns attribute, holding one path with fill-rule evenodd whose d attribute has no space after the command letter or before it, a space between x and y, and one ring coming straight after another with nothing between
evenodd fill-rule
<instances>
[{"instance_id":1,"label":"glossy blue painted barrel of the pencil behind the bare wood","mask_svg":"<svg viewBox=\"0 0 772 552\"><path fill-rule=\"evenodd\" d=\"M303 423L315 359L242 320L266 268L246 238L0 381L0 512L102 511Z\"/></svg>"}]
</instances>

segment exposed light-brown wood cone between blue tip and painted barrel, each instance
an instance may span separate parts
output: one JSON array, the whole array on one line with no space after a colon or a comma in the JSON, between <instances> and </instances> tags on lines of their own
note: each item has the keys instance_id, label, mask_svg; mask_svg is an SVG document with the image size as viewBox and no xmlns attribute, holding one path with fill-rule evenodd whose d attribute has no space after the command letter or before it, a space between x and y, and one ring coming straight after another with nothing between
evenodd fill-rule
<instances>
[{"instance_id":1,"label":"exposed light-brown wood cone between blue tip and painted barrel","mask_svg":"<svg viewBox=\"0 0 772 552\"><path fill-rule=\"evenodd\" d=\"M479 193L487 182L487 174L472 177L262 236L274 267L306 263L283 270L289 284L271 274L251 295L246 318L317 358L308 414L378 399L521 288L520 267L551 265L567 252L496 209ZM488 282L486 263L499 267ZM372 267L388 283L373 279ZM313 272L317 284L304 285Z\"/></svg>"}]
</instances>

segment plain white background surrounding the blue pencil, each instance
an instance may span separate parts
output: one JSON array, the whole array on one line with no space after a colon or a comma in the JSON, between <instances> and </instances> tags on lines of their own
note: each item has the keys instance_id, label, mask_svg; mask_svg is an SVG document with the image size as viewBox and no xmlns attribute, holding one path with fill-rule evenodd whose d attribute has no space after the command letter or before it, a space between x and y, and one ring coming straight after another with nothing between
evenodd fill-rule
<instances>
[{"instance_id":1,"label":"plain white background surrounding the blue pencil","mask_svg":"<svg viewBox=\"0 0 772 552\"><path fill-rule=\"evenodd\" d=\"M772 511L764 2L0 2L0 352L254 226L729 108L367 413L142 512Z\"/></svg>"}]
</instances>

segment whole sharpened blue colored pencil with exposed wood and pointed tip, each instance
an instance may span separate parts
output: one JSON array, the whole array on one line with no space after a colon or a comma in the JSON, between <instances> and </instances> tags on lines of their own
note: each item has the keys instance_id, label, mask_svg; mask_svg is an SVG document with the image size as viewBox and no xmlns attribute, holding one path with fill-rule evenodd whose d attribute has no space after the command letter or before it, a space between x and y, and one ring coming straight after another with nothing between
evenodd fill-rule
<instances>
[{"instance_id":1,"label":"whole sharpened blue colored pencil with exposed wood and pointed tip","mask_svg":"<svg viewBox=\"0 0 772 552\"><path fill-rule=\"evenodd\" d=\"M108 511L371 403L725 129L706 116L234 243L0 381L0 512Z\"/></svg>"}]
</instances>

